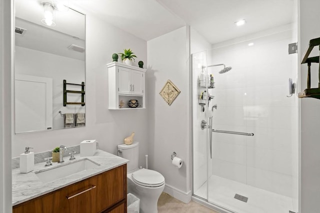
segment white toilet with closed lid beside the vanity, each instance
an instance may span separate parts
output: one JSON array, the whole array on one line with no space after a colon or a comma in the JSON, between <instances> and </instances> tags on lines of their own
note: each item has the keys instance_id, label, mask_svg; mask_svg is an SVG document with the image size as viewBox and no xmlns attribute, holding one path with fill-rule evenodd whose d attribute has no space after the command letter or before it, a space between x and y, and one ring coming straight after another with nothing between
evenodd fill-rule
<instances>
[{"instance_id":1,"label":"white toilet with closed lid beside the vanity","mask_svg":"<svg viewBox=\"0 0 320 213\"><path fill-rule=\"evenodd\" d=\"M164 177L153 170L138 169L139 142L117 146L118 156L129 160L127 191L140 199L140 213L157 213L157 202L164 189Z\"/></svg>"}]
</instances>

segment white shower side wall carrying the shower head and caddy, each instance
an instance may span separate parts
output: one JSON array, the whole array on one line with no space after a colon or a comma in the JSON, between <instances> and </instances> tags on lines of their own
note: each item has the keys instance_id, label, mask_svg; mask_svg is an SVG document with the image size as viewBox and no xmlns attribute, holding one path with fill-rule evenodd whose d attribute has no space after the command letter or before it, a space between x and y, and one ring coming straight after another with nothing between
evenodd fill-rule
<instances>
[{"instance_id":1,"label":"white shower side wall carrying the shower head and caddy","mask_svg":"<svg viewBox=\"0 0 320 213\"><path fill-rule=\"evenodd\" d=\"M192 54L192 125L193 125L193 193L197 195L197 190L207 180L206 175L211 175L211 170L207 171L207 130L201 130L201 120L206 120L205 112L201 111L201 106L198 104L199 84L197 78L201 73L201 66L207 64L207 54L211 52L206 50L211 49L211 44L206 41L195 29L190 27L190 52ZM210 63L210 62L209 62ZM203 91L203 89L201 90Z\"/></svg>"}]
</instances>

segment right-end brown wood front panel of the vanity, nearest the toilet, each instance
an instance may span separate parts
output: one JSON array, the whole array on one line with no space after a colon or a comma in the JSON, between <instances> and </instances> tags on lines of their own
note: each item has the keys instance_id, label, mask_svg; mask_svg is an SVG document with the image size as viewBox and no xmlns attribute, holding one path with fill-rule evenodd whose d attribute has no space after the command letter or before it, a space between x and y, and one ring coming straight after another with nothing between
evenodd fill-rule
<instances>
[{"instance_id":1,"label":"right-end brown wood front panel of the vanity, nearest the toilet","mask_svg":"<svg viewBox=\"0 0 320 213\"><path fill-rule=\"evenodd\" d=\"M126 199L125 165L98 175L96 188L97 212L104 211L115 203Z\"/></svg>"}]
</instances>

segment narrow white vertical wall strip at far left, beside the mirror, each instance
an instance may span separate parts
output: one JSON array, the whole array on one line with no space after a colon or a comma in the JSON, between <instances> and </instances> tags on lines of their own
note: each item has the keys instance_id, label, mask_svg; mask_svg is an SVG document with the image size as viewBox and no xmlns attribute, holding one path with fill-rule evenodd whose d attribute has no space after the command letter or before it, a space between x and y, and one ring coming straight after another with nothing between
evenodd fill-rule
<instances>
[{"instance_id":1,"label":"narrow white vertical wall strip at far left, beside the mirror","mask_svg":"<svg viewBox=\"0 0 320 213\"><path fill-rule=\"evenodd\" d=\"M13 3L0 1L0 212L11 213L11 69Z\"/></svg>"}]
</instances>

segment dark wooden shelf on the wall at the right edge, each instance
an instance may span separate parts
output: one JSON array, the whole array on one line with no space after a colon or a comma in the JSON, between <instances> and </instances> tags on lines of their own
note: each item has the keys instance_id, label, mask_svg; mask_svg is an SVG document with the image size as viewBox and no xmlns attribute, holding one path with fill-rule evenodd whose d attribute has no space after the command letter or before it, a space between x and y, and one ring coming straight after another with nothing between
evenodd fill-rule
<instances>
[{"instance_id":1,"label":"dark wooden shelf on the wall at the right edge","mask_svg":"<svg viewBox=\"0 0 320 213\"><path fill-rule=\"evenodd\" d=\"M318 72L318 87L317 88L310 88L311 87L311 63L319 63L319 56L309 57L309 54L314 46L319 46L320 51L320 37L314 38L309 41L309 47L304 53L302 58L301 64L306 63L308 66L308 74L307 74L307 86L306 89L302 92L298 93L299 98L317 98L320 99L320 64L319 64L319 72Z\"/></svg>"}]
</instances>

